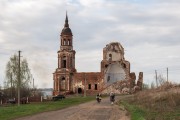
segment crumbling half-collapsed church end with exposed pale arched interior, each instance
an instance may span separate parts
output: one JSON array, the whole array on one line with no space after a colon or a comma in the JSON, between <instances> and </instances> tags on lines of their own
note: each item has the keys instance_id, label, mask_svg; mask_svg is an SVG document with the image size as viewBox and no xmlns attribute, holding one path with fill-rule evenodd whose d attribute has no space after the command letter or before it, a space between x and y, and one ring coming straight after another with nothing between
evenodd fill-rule
<instances>
[{"instance_id":1,"label":"crumbling half-collapsed church end with exposed pale arched interior","mask_svg":"<svg viewBox=\"0 0 180 120\"><path fill-rule=\"evenodd\" d=\"M133 93L142 90L143 76L136 83L136 75L130 72L130 62L124 57L124 48L118 42L111 42L103 49L101 72L104 77L102 93Z\"/></svg>"}]
</instances>

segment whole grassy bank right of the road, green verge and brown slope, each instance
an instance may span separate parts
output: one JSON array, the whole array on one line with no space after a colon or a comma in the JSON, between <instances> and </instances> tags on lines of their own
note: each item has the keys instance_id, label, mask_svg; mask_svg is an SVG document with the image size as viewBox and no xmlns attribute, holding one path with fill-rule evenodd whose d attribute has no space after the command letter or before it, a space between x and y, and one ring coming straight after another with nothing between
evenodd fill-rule
<instances>
[{"instance_id":1,"label":"whole grassy bank right of the road, green verge and brown slope","mask_svg":"<svg viewBox=\"0 0 180 120\"><path fill-rule=\"evenodd\" d=\"M131 120L180 120L180 87L147 90L120 101Z\"/></svg>"}]
</instances>

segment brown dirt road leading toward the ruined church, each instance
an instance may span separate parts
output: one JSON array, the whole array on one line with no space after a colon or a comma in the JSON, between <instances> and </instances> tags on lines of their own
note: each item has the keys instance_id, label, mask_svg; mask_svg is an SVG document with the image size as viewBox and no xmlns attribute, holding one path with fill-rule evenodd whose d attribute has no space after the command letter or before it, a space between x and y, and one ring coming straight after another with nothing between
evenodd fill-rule
<instances>
[{"instance_id":1,"label":"brown dirt road leading toward the ruined church","mask_svg":"<svg viewBox=\"0 0 180 120\"><path fill-rule=\"evenodd\" d=\"M116 97L118 99L119 97ZM130 120L126 111L118 105L111 105L109 98L69 107L62 110L44 112L17 120Z\"/></svg>"}]
</instances>

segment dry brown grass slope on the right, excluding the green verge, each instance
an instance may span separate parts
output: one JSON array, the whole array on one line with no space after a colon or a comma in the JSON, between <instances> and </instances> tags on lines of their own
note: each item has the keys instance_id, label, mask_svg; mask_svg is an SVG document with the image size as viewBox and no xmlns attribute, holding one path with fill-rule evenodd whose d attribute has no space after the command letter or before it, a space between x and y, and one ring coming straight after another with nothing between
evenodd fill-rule
<instances>
[{"instance_id":1,"label":"dry brown grass slope on the right, excluding the green verge","mask_svg":"<svg viewBox=\"0 0 180 120\"><path fill-rule=\"evenodd\" d=\"M165 83L135 94L128 102L145 108L148 120L180 119L180 85Z\"/></svg>"}]
</instances>

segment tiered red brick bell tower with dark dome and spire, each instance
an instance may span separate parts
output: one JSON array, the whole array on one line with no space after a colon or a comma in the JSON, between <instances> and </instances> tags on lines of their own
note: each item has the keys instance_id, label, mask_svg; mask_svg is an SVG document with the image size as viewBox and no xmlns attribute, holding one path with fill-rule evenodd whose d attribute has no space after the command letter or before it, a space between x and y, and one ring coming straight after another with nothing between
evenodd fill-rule
<instances>
[{"instance_id":1,"label":"tiered red brick bell tower with dark dome and spire","mask_svg":"<svg viewBox=\"0 0 180 120\"><path fill-rule=\"evenodd\" d=\"M73 91L73 74L75 69L75 50L73 50L73 34L69 28L66 12L64 28L60 33L60 50L58 53L58 68L53 73L53 95Z\"/></svg>"}]
</instances>

